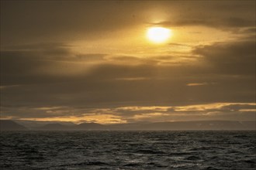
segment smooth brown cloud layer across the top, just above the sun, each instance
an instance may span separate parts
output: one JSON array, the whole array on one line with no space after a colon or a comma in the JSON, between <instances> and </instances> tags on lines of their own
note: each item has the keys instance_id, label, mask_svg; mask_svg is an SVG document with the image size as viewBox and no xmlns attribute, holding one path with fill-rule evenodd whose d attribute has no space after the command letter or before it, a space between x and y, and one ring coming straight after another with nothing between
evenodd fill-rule
<instances>
[{"instance_id":1,"label":"smooth brown cloud layer across the top, just above the sun","mask_svg":"<svg viewBox=\"0 0 256 170\"><path fill-rule=\"evenodd\" d=\"M254 7L254 1L1 1L1 42L3 47L102 39L111 32L152 23L159 14L164 15L161 24L168 26L255 26Z\"/></svg>"}]
</instances>

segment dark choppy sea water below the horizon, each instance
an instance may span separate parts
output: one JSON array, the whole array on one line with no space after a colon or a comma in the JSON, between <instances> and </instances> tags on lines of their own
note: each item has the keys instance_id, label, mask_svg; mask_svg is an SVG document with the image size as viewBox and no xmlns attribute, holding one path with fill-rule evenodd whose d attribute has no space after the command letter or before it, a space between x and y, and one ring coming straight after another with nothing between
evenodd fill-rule
<instances>
[{"instance_id":1,"label":"dark choppy sea water below the horizon","mask_svg":"<svg viewBox=\"0 0 256 170\"><path fill-rule=\"evenodd\" d=\"M1 132L0 169L256 169L255 131Z\"/></svg>"}]
</instances>

